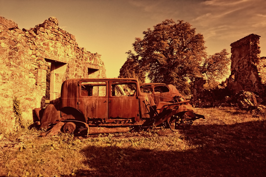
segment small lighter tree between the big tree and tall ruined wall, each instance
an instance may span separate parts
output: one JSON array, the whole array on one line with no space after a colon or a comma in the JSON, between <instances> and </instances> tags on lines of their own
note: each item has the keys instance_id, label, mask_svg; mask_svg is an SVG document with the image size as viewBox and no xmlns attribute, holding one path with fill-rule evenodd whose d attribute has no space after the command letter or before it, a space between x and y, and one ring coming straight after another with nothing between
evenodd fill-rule
<instances>
[{"instance_id":1,"label":"small lighter tree between the big tree and tall ruined wall","mask_svg":"<svg viewBox=\"0 0 266 177\"><path fill-rule=\"evenodd\" d=\"M213 87L217 80L224 78L228 74L230 58L226 49L221 52L209 55L201 68L201 73L206 76L209 87Z\"/></svg>"}]
</instances>

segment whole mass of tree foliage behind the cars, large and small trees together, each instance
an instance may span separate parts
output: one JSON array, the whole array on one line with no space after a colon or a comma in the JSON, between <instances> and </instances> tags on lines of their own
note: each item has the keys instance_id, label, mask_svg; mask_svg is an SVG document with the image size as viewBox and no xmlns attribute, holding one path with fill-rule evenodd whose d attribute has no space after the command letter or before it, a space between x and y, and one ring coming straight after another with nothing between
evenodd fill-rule
<instances>
[{"instance_id":1,"label":"whole mass of tree foliage behind the cars, large and small trees together","mask_svg":"<svg viewBox=\"0 0 266 177\"><path fill-rule=\"evenodd\" d=\"M165 20L144 31L143 38L135 38L132 51L120 69L119 77L145 75L151 82L173 84L182 88L186 81L206 75L209 81L224 75L218 67L228 64L226 50L207 56L203 35L182 20ZM219 61L218 60L225 60ZM211 72L215 72L212 74ZM142 73L141 73L142 72Z\"/></svg>"}]
</instances>

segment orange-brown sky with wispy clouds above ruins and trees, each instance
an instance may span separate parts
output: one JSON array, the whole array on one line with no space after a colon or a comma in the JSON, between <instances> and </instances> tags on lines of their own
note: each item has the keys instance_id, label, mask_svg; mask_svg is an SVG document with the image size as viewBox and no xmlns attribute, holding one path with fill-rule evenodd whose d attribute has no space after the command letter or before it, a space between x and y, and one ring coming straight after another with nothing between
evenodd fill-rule
<instances>
[{"instance_id":1,"label":"orange-brown sky with wispy clouds above ruins and trees","mask_svg":"<svg viewBox=\"0 0 266 177\"><path fill-rule=\"evenodd\" d=\"M254 33L266 56L265 9L266 0L0 0L0 16L20 29L56 17L80 47L101 54L107 78L119 75L135 38L166 19L189 22L210 55Z\"/></svg>"}]
</instances>

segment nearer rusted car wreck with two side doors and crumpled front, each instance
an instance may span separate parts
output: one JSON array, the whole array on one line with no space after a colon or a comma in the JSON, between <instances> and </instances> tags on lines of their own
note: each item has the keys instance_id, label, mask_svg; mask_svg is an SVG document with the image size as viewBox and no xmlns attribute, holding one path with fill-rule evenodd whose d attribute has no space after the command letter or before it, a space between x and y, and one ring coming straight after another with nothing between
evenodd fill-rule
<instances>
[{"instance_id":1,"label":"nearer rusted car wreck with two side doors and crumpled front","mask_svg":"<svg viewBox=\"0 0 266 177\"><path fill-rule=\"evenodd\" d=\"M140 91L135 78L78 78L63 82L59 104L35 108L35 112L40 128L48 128L43 135L127 132L204 118L195 114L189 100L162 103L158 109L152 96Z\"/></svg>"}]
</instances>

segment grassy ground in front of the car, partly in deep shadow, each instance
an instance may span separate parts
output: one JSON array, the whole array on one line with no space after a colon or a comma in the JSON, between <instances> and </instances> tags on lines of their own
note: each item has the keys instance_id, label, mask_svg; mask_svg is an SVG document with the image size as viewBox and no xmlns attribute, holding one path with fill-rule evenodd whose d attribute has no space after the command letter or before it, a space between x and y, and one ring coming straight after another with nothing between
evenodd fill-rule
<instances>
[{"instance_id":1,"label":"grassy ground in front of the car, partly in deep shadow","mask_svg":"<svg viewBox=\"0 0 266 177\"><path fill-rule=\"evenodd\" d=\"M190 128L0 140L0 176L266 176L266 119L236 108L197 108Z\"/></svg>"}]
</instances>

